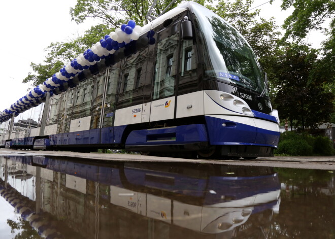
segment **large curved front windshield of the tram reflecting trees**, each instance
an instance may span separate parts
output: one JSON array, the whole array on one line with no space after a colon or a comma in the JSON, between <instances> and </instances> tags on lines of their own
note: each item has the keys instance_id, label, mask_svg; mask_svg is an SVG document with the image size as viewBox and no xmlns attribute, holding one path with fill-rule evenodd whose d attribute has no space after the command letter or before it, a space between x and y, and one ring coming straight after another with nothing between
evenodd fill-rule
<instances>
[{"instance_id":1,"label":"large curved front windshield of the tram reflecting trees","mask_svg":"<svg viewBox=\"0 0 335 239\"><path fill-rule=\"evenodd\" d=\"M193 12L205 45L206 75L261 93L263 74L243 36L208 9L194 6Z\"/></svg>"}]
</instances>

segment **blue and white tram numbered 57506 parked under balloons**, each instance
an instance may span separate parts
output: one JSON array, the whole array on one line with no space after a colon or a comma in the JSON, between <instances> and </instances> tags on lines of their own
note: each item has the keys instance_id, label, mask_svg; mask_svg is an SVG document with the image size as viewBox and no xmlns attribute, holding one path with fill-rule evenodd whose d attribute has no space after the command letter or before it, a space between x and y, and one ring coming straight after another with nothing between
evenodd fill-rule
<instances>
[{"instance_id":1,"label":"blue and white tram numbered 57506 parked under balloons","mask_svg":"<svg viewBox=\"0 0 335 239\"><path fill-rule=\"evenodd\" d=\"M266 74L242 35L212 11L182 4L112 52L77 75L69 73L59 87L42 85L52 95L44 106L43 134L41 127L30 127L5 137L2 145L273 156L279 116Z\"/></svg>"}]
</instances>

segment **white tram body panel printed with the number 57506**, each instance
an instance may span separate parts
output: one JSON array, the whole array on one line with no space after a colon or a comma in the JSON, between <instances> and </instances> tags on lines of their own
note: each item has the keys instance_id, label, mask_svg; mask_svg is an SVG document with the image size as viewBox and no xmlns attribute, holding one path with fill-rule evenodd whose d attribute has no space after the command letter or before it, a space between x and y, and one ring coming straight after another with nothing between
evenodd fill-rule
<instances>
[{"instance_id":1,"label":"white tram body panel printed with the number 57506","mask_svg":"<svg viewBox=\"0 0 335 239\"><path fill-rule=\"evenodd\" d=\"M114 126L141 123L142 106L143 104L116 110Z\"/></svg>"}]
</instances>

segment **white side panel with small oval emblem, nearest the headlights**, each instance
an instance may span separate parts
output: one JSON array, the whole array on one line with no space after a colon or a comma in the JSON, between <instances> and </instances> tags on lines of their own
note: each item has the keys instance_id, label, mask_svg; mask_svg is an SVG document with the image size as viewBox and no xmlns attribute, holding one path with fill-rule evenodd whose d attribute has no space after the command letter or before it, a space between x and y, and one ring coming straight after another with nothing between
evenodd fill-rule
<instances>
[{"instance_id":1,"label":"white side panel with small oval emblem, nearest the headlights","mask_svg":"<svg viewBox=\"0 0 335 239\"><path fill-rule=\"evenodd\" d=\"M204 91L180 95L177 98L176 118L204 115Z\"/></svg>"}]
</instances>

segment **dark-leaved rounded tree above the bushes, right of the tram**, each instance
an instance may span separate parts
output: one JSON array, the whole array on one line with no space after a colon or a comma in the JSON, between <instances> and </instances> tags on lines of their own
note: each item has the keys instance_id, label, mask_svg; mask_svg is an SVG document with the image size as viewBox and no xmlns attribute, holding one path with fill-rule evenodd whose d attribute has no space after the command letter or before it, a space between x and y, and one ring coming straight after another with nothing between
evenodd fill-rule
<instances>
[{"instance_id":1,"label":"dark-leaved rounded tree above the bushes, right of the tram","mask_svg":"<svg viewBox=\"0 0 335 239\"><path fill-rule=\"evenodd\" d=\"M275 106L282 118L303 129L327 122L334 110L334 94L325 91L322 81L310 80L317 61L317 50L287 43L275 66Z\"/></svg>"}]
</instances>

